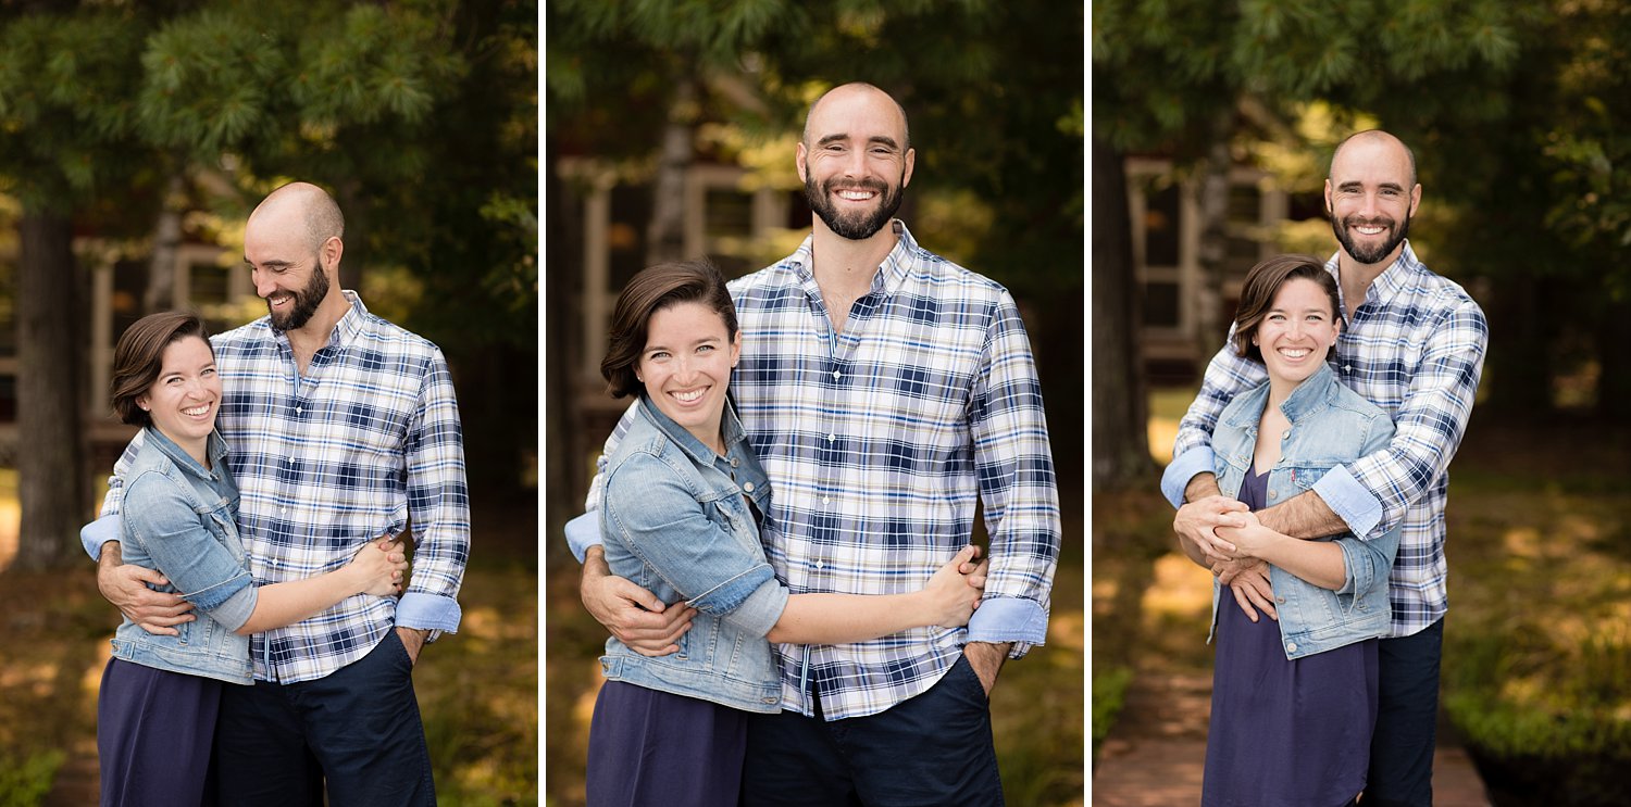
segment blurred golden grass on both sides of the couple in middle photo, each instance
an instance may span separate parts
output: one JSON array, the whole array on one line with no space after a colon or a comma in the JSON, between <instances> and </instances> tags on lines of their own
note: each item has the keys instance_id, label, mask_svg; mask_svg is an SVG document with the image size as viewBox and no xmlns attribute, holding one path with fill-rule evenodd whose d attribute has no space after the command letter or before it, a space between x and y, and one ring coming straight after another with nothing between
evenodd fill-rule
<instances>
[{"instance_id":1,"label":"blurred golden grass on both sides of the couple in middle photo","mask_svg":"<svg viewBox=\"0 0 1631 807\"><path fill-rule=\"evenodd\" d=\"M1070 491L1062 491L1073 499ZM1065 502L1065 545L1054 579L1047 644L1003 667L992 693L992 734L1008 804L1083 804L1083 556L1081 507ZM602 683L605 629L577 602L577 566L546 589L545 802L584 804L589 717Z\"/></svg>"}]
</instances>

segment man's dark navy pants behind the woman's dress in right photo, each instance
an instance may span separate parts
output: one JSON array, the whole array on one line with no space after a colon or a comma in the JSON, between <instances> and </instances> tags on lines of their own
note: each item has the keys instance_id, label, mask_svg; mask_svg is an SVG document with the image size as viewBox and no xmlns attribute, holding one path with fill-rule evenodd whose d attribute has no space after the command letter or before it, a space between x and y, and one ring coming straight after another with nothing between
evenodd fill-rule
<instances>
[{"instance_id":1,"label":"man's dark navy pants behind the woman's dress in right photo","mask_svg":"<svg viewBox=\"0 0 1631 807\"><path fill-rule=\"evenodd\" d=\"M1411 636L1381 639L1377 652L1381 688L1364 804L1429 807L1443 620Z\"/></svg>"}]
</instances>

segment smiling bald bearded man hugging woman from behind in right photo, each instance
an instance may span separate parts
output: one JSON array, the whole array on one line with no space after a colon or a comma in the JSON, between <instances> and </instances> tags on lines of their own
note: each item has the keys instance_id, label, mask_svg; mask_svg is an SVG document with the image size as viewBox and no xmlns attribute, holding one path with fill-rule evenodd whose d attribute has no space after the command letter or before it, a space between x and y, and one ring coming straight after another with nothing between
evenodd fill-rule
<instances>
[{"instance_id":1,"label":"smiling bald bearded man hugging woman from behind in right photo","mask_svg":"<svg viewBox=\"0 0 1631 807\"><path fill-rule=\"evenodd\" d=\"M1349 531L1375 538L1403 523L1388 580L1393 621L1378 650L1367 807L1432 804L1439 657L1448 608L1448 470L1489 342L1478 303L1427 271L1411 249L1406 236L1421 197L1416 157L1388 132L1357 132L1331 157L1324 201L1341 249L1326 269L1337 279L1347 320L1334 365L1342 383L1393 417L1396 432L1385 450L1333 468L1306 492L1258 514L1264 525L1308 540ZM1225 344L1179 424L1173 463L1161 478L1161 491L1179 507L1173 522L1179 541L1217 558L1213 574L1253 621L1259 611L1275 618L1280 600L1261 561L1223 559L1233 528L1244 523L1233 514L1244 505L1218 496L1212 427L1236 393L1264 378L1262 365Z\"/></svg>"}]
</instances>

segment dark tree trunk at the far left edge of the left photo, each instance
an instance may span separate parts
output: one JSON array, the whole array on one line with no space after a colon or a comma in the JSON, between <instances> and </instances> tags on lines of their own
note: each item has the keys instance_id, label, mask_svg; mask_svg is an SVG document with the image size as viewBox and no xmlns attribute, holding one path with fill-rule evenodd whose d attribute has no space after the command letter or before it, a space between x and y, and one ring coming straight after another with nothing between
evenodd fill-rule
<instances>
[{"instance_id":1,"label":"dark tree trunk at the far left edge of the left photo","mask_svg":"<svg viewBox=\"0 0 1631 807\"><path fill-rule=\"evenodd\" d=\"M16 566L55 569L78 554L90 515L77 323L73 230L67 217L24 212L18 222L18 497Z\"/></svg>"}]
</instances>

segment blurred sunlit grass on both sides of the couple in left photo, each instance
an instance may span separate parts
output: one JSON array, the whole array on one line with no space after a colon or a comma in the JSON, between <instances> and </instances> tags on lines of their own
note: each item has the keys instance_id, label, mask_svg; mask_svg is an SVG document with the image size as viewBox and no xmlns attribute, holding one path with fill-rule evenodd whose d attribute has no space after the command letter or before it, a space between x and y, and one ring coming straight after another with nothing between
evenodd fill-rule
<instances>
[{"instance_id":1,"label":"blurred sunlit grass on both sides of the couple in left photo","mask_svg":"<svg viewBox=\"0 0 1631 807\"><path fill-rule=\"evenodd\" d=\"M0 476L3 484L3 476ZM537 528L478 512L458 634L427 646L414 690L442 805L538 804ZM13 531L15 535L15 531ZM96 688L119 623L95 567L0 574L0 807L96 802Z\"/></svg>"}]
</instances>

